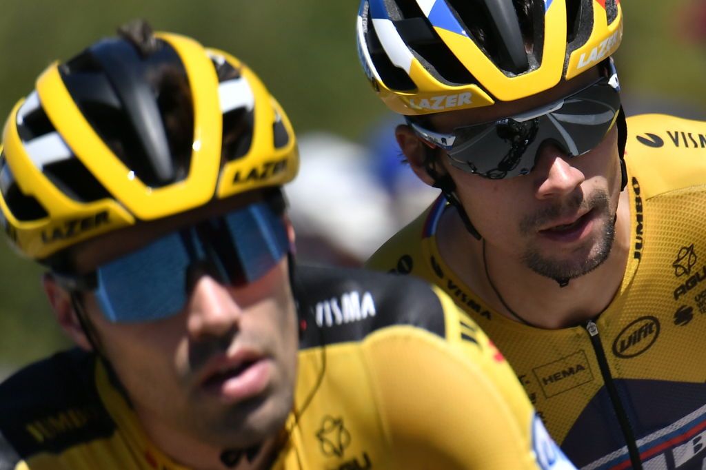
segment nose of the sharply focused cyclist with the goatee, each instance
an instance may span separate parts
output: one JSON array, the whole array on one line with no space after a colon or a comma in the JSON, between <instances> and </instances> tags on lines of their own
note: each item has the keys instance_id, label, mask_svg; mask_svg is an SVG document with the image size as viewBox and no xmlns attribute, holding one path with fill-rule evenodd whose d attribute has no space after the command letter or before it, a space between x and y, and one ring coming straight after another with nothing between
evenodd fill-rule
<instances>
[{"instance_id":1,"label":"nose of the sharply focused cyclist with the goatee","mask_svg":"<svg viewBox=\"0 0 706 470\"><path fill-rule=\"evenodd\" d=\"M570 158L556 145L546 145L539 150L531 173L535 179L537 199L561 198L585 181L586 176L570 164Z\"/></svg>"}]
</instances>

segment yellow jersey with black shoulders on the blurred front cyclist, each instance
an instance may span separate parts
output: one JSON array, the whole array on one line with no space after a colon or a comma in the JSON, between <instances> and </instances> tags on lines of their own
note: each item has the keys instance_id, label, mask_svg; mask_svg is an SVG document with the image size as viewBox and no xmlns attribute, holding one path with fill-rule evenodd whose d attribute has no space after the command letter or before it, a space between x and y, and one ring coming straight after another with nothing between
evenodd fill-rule
<instances>
[{"instance_id":1,"label":"yellow jersey with black shoulders on the blurred front cyclist","mask_svg":"<svg viewBox=\"0 0 706 470\"><path fill-rule=\"evenodd\" d=\"M300 270L295 403L271 468L574 469L476 323L438 289ZM152 445L104 362L79 350L0 385L0 469L184 469Z\"/></svg>"}]
</instances>

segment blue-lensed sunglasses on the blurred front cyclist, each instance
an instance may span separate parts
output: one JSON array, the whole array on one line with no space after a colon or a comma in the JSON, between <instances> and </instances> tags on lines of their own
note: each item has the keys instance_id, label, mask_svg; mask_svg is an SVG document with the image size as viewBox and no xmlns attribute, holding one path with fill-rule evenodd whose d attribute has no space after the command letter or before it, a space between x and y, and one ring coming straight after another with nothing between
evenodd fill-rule
<instances>
[{"instance_id":1,"label":"blue-lensed sunglasses on the blurred front cyclist","mask_svg":"<svg viewBox=\"0 0 706 470\"><path fill-rule=\"evenodd\" d=\"M92 291L112 323L179 313L202 275L243 286L260 279L289 251L285 222L261 201L173 231L88 275L54 273L71 291Z\"/></svg>"}]
</instances>

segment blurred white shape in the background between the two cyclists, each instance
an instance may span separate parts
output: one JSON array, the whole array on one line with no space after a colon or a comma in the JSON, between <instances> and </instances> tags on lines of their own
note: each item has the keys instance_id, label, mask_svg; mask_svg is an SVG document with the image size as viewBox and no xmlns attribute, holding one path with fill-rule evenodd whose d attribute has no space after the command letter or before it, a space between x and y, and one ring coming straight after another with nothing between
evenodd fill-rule
<instances>
[{"instance_id":1,"label":"blurred white shape in the background between the two cyclists","mask_svg":"<svg viewBox=\"0 0 706 470\"><path fill-rule=\"evenodd\" d=\"M364 147L328 133L299 138L299 176L285 190L308 263L361 265L398 227L388 193L371 177Z\"/></svg>"}]
</instances>

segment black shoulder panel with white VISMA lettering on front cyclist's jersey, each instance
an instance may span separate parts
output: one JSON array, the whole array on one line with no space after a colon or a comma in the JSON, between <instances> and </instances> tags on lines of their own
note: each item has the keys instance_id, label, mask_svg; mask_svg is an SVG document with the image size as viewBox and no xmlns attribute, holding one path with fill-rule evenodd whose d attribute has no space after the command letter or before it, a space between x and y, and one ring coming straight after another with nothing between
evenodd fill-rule
<instances>
[{"instance_id":1,"label":"black shoulder panel with white VISMA lettering on front cyclist's jersey","mask_svg":"<svg viewBox=\"0 0 706 470\"><path fill-rule=\"evenodd\" d=\"M313 322L304 348L321 345L322 337L327 344L362 341L373 332L400 325L445 337L445 316L455 308L441 291L411 276L300 267L297 278L297 301Z\"/></svg>"}]
</instances>

